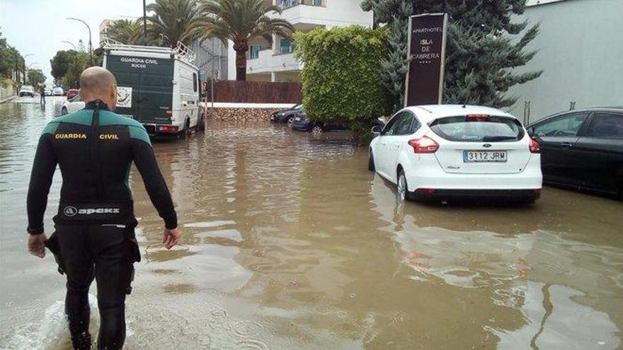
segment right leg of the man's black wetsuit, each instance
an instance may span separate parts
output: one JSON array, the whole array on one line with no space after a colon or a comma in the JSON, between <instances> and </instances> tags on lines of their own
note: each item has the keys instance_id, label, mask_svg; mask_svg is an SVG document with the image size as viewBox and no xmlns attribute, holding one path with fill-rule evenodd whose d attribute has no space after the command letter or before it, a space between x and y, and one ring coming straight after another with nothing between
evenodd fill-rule
<instances>
[{"instance_id":1,"label":"right leg of the man's black wetsuit","mask_svg":"<svg viewBox=\"0 0 623 350\"><path fill-rule=\"evenodd\" d=\"M125 342L125 295L132 279L132 255L125 228L93 225L89 228L95 251L100 333L98 349L122 349Z\"/></svg>"}]
</instances>

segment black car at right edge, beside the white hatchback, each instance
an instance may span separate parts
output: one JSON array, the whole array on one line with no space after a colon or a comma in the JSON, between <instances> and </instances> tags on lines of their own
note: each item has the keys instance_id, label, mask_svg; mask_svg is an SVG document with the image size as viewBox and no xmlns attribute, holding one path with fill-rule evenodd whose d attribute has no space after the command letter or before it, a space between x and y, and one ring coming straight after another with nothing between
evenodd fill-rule
<instances>
[{"instance_id":1,"label":"black car at right edge, beside the white hatchback","mask_svg":"<svg viewBox=\"0 0 623 350\"><path fill-rule=\"evenodd\" d=\"M544 182L623 199L623 107L570 110L527 126Z\"/></svg>"}]
</instances>

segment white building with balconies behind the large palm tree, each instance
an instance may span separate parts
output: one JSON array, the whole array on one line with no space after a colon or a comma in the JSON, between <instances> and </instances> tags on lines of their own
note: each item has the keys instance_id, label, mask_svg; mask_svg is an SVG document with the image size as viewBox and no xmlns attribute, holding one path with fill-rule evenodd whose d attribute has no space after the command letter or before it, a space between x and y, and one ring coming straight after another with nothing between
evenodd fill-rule
<instances>
[{"instance_id":1,"label":"white building with balconies behind the large palm tree","mask_svg":"<svg viewBox=\"0 0 623 350\"><path fill-rule=\"evenodd\" d=\"M282 8L281 18L297 30L308 32L317 27L327 29L347 25L372 27L372 12L361 9L360 0L267 0ZM275 16L279 16L275 13ZM291 40L273 36L273 45L263 38L250 42L247 52L248 81L300 81L302 65L293 53ZM236 79L236 52L229 42L228 77Z\"/></svg>"}]
</instances>

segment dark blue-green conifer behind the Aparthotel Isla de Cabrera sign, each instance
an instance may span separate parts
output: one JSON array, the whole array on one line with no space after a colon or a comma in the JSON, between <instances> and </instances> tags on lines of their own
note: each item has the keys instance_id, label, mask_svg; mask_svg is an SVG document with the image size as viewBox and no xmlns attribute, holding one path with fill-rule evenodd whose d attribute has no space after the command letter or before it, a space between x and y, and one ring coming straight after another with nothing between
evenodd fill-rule
<instances>
[{"instance_id":1,"label":"dark blue-green conifer behind the Aparthotel Isla de Cabrera sign","mask_svg":"<svg viewBox=\"0 0 623 350\"><path fill-rule=\"evenodd\" d=\"M542 73L513 71L536 54L525 51L525 47L538 34L538 25L525 30L527 23L510 21L514 14L523 13L525 0L487 0L479 1L477 6L464 0L363 0L362 8L374 11L375 23L387 23L391 28L391 53L382 63L382 79L396 107L404 101L411 13L449 14L444 103L507 107L516 101L505 94L511 86ZM523 30L525 33L517 38Z\"/></svg>"}]
</instances>

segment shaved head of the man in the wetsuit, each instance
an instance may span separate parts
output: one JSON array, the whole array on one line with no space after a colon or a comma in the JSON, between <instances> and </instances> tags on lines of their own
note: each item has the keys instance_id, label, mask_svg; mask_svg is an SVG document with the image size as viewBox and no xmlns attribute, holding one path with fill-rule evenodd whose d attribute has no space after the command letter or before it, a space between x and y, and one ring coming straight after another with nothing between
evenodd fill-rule
<instances>
[{"instance_id":1,"label":"shaved head of the man in the wetsuit","mask_svg":"<svg viewBox=\"0 0 623 350\"><path fill-rule=\"evenodd\" d=\"M86 103L101 100L114 110L117 106L117 80L108 69L87 68L80 75L80 96Z\"/></svg>"}]
</instances>

